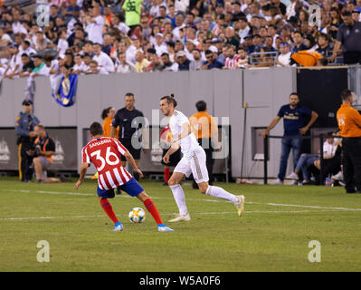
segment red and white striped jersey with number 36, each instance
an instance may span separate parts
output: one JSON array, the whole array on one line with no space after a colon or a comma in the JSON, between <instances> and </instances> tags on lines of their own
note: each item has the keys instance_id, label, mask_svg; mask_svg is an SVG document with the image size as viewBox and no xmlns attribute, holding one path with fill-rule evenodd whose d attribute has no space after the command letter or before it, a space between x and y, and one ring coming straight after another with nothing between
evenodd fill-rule
<instances>
[{"instance_id":1,"label":"red and white striped jersey with number 36","mask_svg":"<svg viewBox=\"0 0 361 290\"><path fill-rule=\"evenodd\" d=\"M120 157L127 151L119 140L109 137L93 139L81 150L82 162L89 166L91 162L99 173L100 189L114 189L132 178L121 166Z\"/></svg>"}]
</instances>

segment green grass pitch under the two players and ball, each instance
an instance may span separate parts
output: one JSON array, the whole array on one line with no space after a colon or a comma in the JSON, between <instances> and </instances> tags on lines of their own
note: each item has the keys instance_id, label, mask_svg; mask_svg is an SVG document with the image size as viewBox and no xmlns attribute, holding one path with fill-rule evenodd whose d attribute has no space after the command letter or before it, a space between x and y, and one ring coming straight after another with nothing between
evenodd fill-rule
<instances>
[{"instance_id":1,"label":"green grass pitch under the two players and ball","mask_svg":"<svg viewBox=\"0 0 361 290\"><path fill-rule=\"evenodd\" d=\"M217 183L246 197L240 218L232 203L184 184L192 220L171 224L177 208L170 189L141 184L175 232L157 232L147 211L143 224L131 224L128 211L144 206L124 192L110 199L124 225L112 232L94 180L75 193L72 183L1 178L0 271L361 271L361 195L341 187ZM50 245L48 263L36 258L41 240ZM320 262L309 262L312 240L320 243Z\"/></svg>"}]
</instances>

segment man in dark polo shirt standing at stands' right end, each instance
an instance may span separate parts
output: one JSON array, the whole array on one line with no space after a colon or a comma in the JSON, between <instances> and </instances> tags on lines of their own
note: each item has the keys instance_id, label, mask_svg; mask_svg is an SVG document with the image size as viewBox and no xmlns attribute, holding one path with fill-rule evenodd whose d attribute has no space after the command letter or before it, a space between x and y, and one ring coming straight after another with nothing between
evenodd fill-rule
<instances>
[{"instance_id":1,"label":"man in dark polo shirt standing at stands' right end","mask_svg":"<svg viewBox=\"0 0 361 290\"><path fill-rule=\"evenodd\" d=\"M352 14L348 11L343 14L342 19L344 23L338 27L331 61L335 60L342 46L345 63L361 63L361 23L354 21Z\"/></svg>"}]
</instances>

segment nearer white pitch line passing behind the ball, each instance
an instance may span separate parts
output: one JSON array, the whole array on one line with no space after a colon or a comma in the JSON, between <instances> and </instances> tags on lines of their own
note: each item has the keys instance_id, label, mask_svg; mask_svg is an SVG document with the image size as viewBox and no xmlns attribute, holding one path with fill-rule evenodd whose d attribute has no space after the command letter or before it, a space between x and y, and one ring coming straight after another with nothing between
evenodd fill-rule
<instances>
[{"instance_id":1,"label":"nearer white pitch line passing behind the ball","mask_svg":"<svg viewBox=\"0 0 361 290\"><path fill-rule=\"evenodd\" d=\"M322 212L335 212L341 210L321 210ZM319 213L319 211L311 210L250 210L246 211L245 214L299 214L299 213ZM197 212L192 215L224 215L232 214L235 215L234 211L223 211L223 212ZM175 216L176 213L162 213L162 216ZM128 215L119 215L128 216ZM31 217L31 218L0 218L0 221L17 221L17 220L34 220L34 219L55 219L55 218L106 218L106 215L97 215L97 216L68 216L68 217Z\"/></svg>"}]
</instances>

